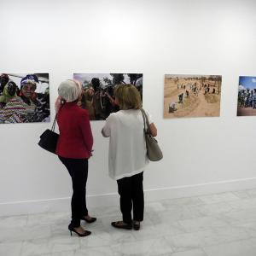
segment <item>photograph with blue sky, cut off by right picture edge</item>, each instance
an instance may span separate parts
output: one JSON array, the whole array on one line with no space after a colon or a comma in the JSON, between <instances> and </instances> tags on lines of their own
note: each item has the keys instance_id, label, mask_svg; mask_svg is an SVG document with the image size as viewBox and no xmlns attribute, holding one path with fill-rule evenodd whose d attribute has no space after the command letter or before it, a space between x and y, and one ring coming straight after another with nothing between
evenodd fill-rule
<instances>
[{"instance_id":1,"label":"photograph with blue sky, cut off by right picture edge","mask_svg":"<svg viewBox=\"0 0 256 256\"><path fill-rule=\"evenodd\" d=\"M239 77L237 116L256 115L256 77Z\"/></svg>"}]
</instances>

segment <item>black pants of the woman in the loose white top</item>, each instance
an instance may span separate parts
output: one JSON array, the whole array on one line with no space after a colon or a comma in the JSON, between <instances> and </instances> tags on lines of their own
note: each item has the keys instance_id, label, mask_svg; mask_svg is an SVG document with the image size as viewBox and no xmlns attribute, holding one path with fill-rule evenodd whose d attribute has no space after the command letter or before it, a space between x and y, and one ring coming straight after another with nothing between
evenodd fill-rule
<instances>
[{"instance_id":1,"label":"black pants of the woman in the loose white top","mask_svg":"<svg viewBox=\"0 0 256 256\"><path fill-rule=\"evenodd\" d=\"M117 183L123 221L126 224L131 224L131 209L133 209L133 220L143 221L143 172L131 177L120 178Z\"/></svg>"}]
</instances>

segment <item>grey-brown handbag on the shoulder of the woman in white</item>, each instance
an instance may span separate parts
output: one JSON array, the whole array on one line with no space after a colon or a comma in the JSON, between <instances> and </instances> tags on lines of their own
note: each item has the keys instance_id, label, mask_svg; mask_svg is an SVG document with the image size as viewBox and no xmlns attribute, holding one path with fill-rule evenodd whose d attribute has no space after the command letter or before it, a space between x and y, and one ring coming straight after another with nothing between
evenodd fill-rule
<instances>
[{"instance_id":1,"label":"grey-brown handbag on the shoulder of the woman in white","mask_svg":"<svg viewBox=\"0 0 256 256\"><path fill-rule=\"evenodd\" d=\"M159 147L157 140L152 136L151 132L149 131L148 116L143 108L141 108L141 112L143 114L144 135L146 140L148 159L151 161L159 161L163 158L163 153Z\"/></svg>"}]
</instances>

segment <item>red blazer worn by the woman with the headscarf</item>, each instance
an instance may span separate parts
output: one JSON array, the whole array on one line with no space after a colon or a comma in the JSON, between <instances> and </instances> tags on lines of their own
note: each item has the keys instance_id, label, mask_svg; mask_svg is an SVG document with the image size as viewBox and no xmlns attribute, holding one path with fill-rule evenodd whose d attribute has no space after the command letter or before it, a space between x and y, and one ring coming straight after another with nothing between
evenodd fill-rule
<instances>
[{"instance_id":1,"label":"red blazer worn by the woman with the headscarf","mask_svg":"<svg viewBox=\"0 0 256 256\"><path fill-rule=\"evenodd\" d=\"M90 119L87 110L77 102L65 103L57 115L60 137L56 154L73 159L89 158L93 144Z\"/></svg>"}]
</instances>

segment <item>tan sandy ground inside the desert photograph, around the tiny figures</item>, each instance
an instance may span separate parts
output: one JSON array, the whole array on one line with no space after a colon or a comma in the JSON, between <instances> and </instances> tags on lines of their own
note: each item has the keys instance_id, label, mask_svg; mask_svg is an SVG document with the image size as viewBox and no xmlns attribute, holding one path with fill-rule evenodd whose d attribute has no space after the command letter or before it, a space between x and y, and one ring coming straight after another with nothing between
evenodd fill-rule
<instances>
[{"instance_id":1,"label":"tan sandy ground inside the desert photograph, around the tiny figures","mask_svg":"<svg viewBox=\"0 0 256 256\"><path fill-rule=\"evenodd\" d=\"M198 88L198 96L190 89L190 84L195 84ZM165 79L164 91L164 118L181 118L181 117L214 117L219 116L220 110L220 91L221 82L205 80L204 84L210 84L210 93L205 95L204 87L201 80L197 79ZM179 88L177 89L177 84ZM181 84L186 85L186 89L181 89ZM201 90L200 90L201 87ZM215 93L212 89L215 88ZM186 97L186 90L189 90L189 97ZM183 93L183 103L178 103L178 95ZM170 103L175 102L176 108L173 113L169 113Z\"/></svg>"}]
</instances>

